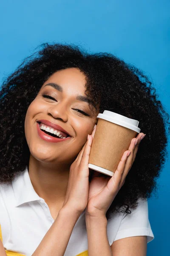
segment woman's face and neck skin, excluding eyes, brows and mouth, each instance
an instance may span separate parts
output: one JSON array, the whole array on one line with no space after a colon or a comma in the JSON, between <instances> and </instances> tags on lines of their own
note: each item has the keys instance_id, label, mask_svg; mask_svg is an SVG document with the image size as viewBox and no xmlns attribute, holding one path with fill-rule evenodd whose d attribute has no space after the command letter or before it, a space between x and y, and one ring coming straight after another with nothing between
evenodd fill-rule
<instances>
[{"instance_id":1,"label":"woman's face and neck skin, excluding eyes, brows and mouth","mask_svg":"<svg viewBox=\"0 0 170 256\"><path fill-rule=\"evenodd\" d=\"M48 204L54 219L65 199L71 163L97 123L98 111L92 114L87 102L76 100L77 94L85 96L85 82L85 75L77 68L57 71L42 85L26 113L25 134L31 153L28 168L31 183ZM45 86L48 83L59 84L63 92ZM55 100L44 98L43 94ZM80 109L89 116L74 109ZM60 143L42 140L37 134L38 119L57 123L68 131L71 139Z\"/></svg>"}]
</instances>

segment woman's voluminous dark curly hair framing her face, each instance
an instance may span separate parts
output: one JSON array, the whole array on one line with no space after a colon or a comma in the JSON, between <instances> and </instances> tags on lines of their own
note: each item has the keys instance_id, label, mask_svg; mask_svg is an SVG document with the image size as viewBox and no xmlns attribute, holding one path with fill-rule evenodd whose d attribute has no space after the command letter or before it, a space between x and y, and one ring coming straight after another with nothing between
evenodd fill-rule
<instances>
[{"instance_id":1,"label":"woman's voluminous dark curly hair framing her face","mask_svg":"<svg viewBox=\"0 0 170 256\"><path fill-rule=\"evenodd\" d=\"M169 115L157 99L147 76L109 53L89 54L75 45L42 44L24 59L2 84L0 91L0 182L9 183L28 166L30 151L26 142L26 111L42 84L54 72L76 67L86 78L85 94L105 109L139 120L146 134L133 166L108 212L107 219L119 211L131 213L139 198L150 198L156 178L167 156ZM125 208L124 208L125 207Z\"/></svg>"}]
</instances>

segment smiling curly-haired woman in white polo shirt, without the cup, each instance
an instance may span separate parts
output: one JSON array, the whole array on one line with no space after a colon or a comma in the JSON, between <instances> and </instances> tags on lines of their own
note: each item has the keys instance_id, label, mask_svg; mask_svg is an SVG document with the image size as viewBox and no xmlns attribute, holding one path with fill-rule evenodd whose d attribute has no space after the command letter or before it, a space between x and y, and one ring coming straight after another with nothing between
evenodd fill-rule
<instances>
[{"instance_id":1,"label":"smiling curly-haired woman in white polo shirt, without the cup","mask_svg":"<svg viewBox=\"0 0 170 256\"><path fill-rule=\"evenodd\" d=\"M88 169L104 110L142 131L113 177ZM0 92L0 255L146 255L168 118L147 77L111 54L44 44L26 58Z\"/></svg>"}]
</instances>

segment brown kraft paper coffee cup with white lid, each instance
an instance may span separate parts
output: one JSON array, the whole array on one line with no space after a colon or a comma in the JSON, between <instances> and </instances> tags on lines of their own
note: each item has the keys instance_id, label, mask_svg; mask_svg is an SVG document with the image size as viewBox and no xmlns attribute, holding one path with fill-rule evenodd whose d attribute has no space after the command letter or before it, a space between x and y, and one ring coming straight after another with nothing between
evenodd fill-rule
<instances>
[{"instance_id":1,"label":"brown kraft paper coffee cup with white lid","mask_svg":"<svg viewBox=\"0 0 170 256\"><path fill-rule=\"evenodd\" d=\"M141 131L139 121L108 110L97 118L88 167L113 176L131 140Z\"/></svg>"}]
</instances>

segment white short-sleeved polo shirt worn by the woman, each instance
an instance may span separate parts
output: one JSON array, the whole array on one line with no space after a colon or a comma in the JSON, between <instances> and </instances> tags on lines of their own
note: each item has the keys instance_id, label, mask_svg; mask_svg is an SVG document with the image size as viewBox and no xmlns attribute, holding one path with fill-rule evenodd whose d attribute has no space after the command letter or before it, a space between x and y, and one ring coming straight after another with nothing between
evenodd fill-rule
<instances>
[{"instance_id":1,"label":"white short-sleeved polo shirt worn by the woman","mask_svg":"<svg viewBox=\"0 0 170 256\"><path fill-rule=\"evenodd\" d=\"M53 222L48 205L32 186L27 168L10 184L0 185L0 236L7 255L31 256ZM152 241L147 201L140 199L131 214L120 213L109 219L107 233L110 245L129 236L147 236L147 242ZM74 226L64 254L77 255L88 256L85 210Z\"/></svg>"}]
</instances>

